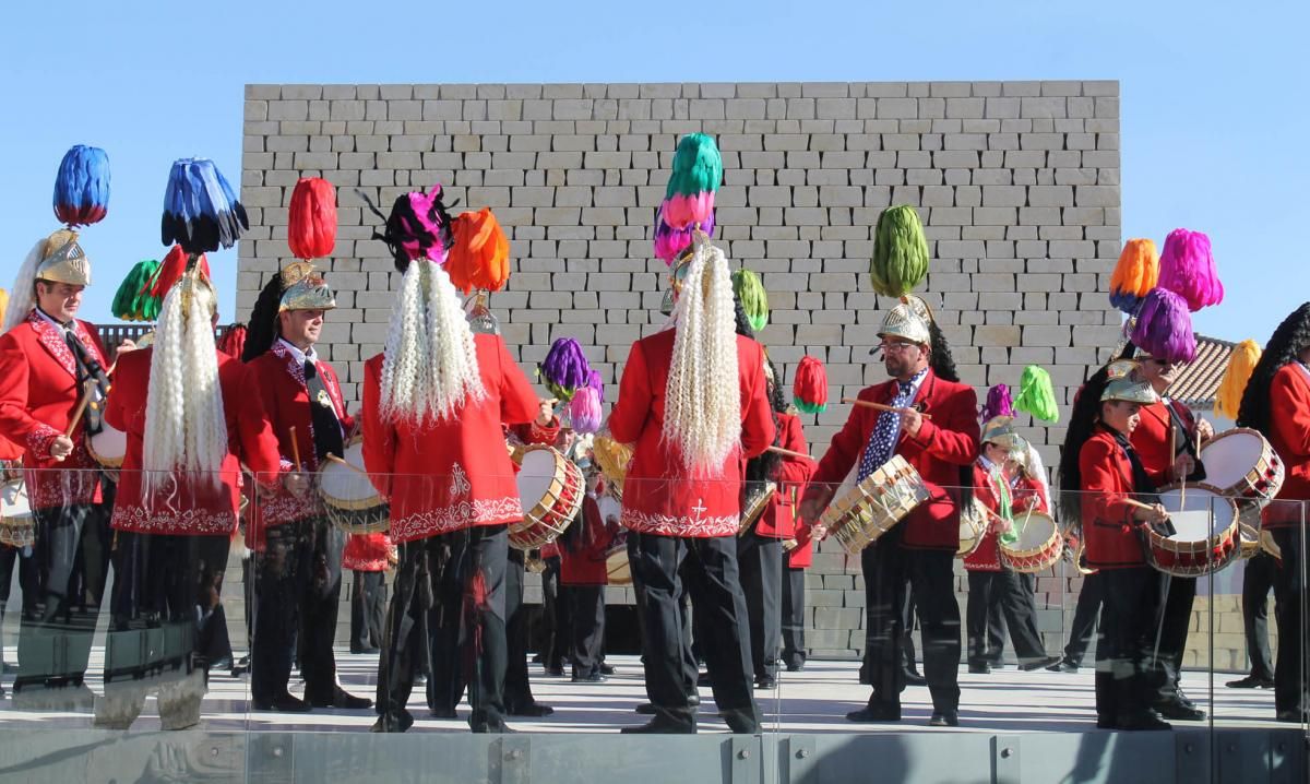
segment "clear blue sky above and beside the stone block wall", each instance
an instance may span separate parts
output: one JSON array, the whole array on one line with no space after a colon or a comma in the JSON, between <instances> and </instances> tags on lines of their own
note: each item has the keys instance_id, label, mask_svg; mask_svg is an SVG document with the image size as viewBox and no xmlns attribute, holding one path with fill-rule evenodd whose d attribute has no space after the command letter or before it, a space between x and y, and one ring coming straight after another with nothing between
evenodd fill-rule
<instances>
[{"instance_id":1,"label":"clear blue sky above and beside the stone block wall","mask_svg":"<svg viewBox=\"0 0 1310 784\"><path fill-rule=\"evenodd\" d=\"M113 197L84 232L97 274L84 315L111 320L118 282L162 252L173 159L240 178L246 83L1119 79L1124 236L1188 227L1214 243L1227 295L1196 329L1263 343L1310 299L1303 1L405 5L10 4L0 284L56 228L63 152L103 147ZM211 262L229 320L236 252Z\"/></svg>"}]
</instances>

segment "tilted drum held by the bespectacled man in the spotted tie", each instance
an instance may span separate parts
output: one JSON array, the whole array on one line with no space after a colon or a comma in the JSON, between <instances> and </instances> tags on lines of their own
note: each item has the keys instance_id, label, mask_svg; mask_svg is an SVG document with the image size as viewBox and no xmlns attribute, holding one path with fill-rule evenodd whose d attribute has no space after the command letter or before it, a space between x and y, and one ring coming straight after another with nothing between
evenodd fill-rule
<instances>
[{"instance_id":1,"label":"tilted drum held by the bespectacled man in the spotted tie","mask_svg":"<svg viewBox=\"0 0 1310 784\"><path fill-rule=\"evenodd\" d=\"M893 455L882 468L834 498L819 518L841 547L855 555L927 501L927 486L918 471Z\"/></svg>"}]
</instances>

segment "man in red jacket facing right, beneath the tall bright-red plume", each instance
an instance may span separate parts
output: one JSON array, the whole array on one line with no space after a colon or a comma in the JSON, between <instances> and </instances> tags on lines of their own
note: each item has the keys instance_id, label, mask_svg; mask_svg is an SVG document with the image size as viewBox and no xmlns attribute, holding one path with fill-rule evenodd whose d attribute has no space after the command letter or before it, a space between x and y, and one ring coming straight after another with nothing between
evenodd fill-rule
<instances>
[{"instance_id":1,"label":"man in red jacket facing right, beneath the tall bright-red plume","mask_svg":"<svg viewBox=\"0 0 1310 784\"><path fill-rule=\"evenodd\" d=\"M295 261L259 292L241 358L278 437L284 486L263 493L252 514L257 553L250 696L258 711L368 708L337 684L337 607L345 535L328 519L309 477L345 454L355 427L337 371L314 350L331 288L307 261ZM291 695L291 661L300 649L305 699Z\"/></svg>"}]
</instances>

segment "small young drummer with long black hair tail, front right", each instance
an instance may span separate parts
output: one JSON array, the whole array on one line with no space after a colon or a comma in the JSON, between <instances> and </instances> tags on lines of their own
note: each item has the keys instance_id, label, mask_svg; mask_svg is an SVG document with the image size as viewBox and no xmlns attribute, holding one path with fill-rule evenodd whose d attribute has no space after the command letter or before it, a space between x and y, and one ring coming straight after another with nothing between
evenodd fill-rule
<instances>
[{"instance_id":1,"label":"small young drummer with long black hair tail, front right","mask_svg":"<svg viewBox=\"0 0 1310 784\"><path fill-rule=\"evenodd\" d=\"M1136 362L1098 371L1074 404L1060 460L1061 484L1081 490L1061 496L1061 511L1081 522L1087 564L1104 582L1096 645L1096 726L1103 729L1170 729L1151 709L1163 682L1151 650L1161 574L1146 562L1138 536L1142 524L1165 524L1169 517L1159 503L1134 498L1155 488L1129 441L1141 408L1157 399Z\"/></svg>"}]
</instances>

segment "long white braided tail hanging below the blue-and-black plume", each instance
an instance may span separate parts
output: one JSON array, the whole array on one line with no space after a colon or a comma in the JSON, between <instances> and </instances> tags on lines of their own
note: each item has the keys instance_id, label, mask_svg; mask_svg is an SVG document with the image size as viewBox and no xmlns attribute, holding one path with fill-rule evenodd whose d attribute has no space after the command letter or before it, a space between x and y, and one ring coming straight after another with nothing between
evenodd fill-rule
<instances>
[{"instance_id":1,"label":"long white braided tail hanging below the blue-and-black plume","mask_svg":"<svg viewBox=\"0 0 1310 784\"><path fill-rule=\"evenodd\" d=\"M221 484L228 426L214 347L212 298L206 287L182 281L160 305L145 399L141 486L147 505L155 493L169 489L173 471L203 472L211 485ZM183 313L183 307L189 312Z\"/></svg>"}]
</instances>

